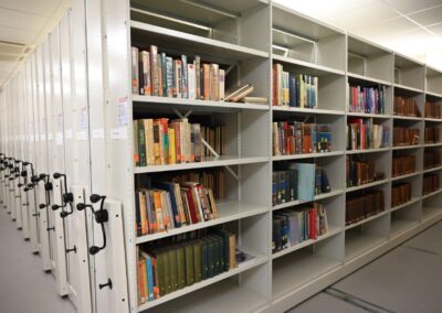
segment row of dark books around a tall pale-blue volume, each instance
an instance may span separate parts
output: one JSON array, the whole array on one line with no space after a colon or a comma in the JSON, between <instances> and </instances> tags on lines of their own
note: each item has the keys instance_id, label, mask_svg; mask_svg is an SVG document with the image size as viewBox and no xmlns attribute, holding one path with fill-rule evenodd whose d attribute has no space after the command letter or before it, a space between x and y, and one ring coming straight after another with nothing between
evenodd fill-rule
<instances>
[{"instance_id":1,"label":"row of dark books around a tall pale-blue volume","mask_svg":"<svg viewBox=\"0 0 442 313\"><path fill-rule=\"evenodd\" d=\"M272 174L272 203L278 205L296 199L313 201L315 195L332 191L324 168L311 163L275 164Z\"/></svg>"}]
</instances>

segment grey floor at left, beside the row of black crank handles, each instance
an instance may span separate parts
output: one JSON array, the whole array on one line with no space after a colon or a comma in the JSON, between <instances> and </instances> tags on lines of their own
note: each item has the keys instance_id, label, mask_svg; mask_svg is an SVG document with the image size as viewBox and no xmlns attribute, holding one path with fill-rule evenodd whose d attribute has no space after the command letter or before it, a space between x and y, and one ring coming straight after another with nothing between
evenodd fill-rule
<instances>
[{"instance_id":1,"label":"grey floor at left, beside the row of black crank handles","mask_svg":"<svg viewBox=\"0 0 442 313\"><path fill-rule=\"evenodd\" d=\"M56 295L55 279L42 270L41 258L0 208L0 312L74 313L67 299Z\"/></svg>"}]
</instances>

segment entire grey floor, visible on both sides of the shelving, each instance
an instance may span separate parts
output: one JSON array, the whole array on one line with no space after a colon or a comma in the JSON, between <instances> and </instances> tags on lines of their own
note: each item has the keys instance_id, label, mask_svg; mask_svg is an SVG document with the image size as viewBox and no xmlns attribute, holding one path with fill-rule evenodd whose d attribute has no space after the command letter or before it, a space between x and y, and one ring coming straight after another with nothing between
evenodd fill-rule
<instances>
[{"instance_id":1,"label":"entire grey floor, visible on both sides of the shelving","mask_svg":"<svg viewBox=\"0 0 442 313\"><path fill-rule=\"evenodd\" d=\"M72 303L56 295L53 276L43 272L40 257L21 236L0 209L0 312L74 313ZM440 313L441 239L439 223L288 313Z\"/></svg>"}]
</instances>

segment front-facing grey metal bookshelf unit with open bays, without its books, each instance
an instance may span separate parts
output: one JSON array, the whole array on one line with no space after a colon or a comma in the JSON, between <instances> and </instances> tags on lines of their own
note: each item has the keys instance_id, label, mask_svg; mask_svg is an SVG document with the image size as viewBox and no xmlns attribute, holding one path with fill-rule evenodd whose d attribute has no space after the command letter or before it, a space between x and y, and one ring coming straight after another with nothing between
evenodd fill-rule
<instances>
[{"instance_id":1,"label":"front-facing grey metal bookshelf unit with open bays, without its books","mask_svg":"<svg viewBox=\"0 0 442 313\"><path fill-rule=\"evenodd\" d=\"M114 2L106 12L108 93L116 102L109 109L114 138L108 151L119 162L109 164L110 175L118 177L109 184L112 196L124 203L130 312L283 312L442 218L441 190L423 194L421 187L424 175L440 179L442 174L441 164L423 166L425 151L442 149L423 139L425 127L442 127L441 118L427 118L423 112L425 101L442 104L441 72L265 0ZM220 64L228 72L227 87L252 84L252 96L267 101L133 94L130 47L148 50L150 45L175 58L200 55L204 62ZM275 64L290 73L318 77L317 107L272 105ZM382 111L354 111L350 86L381 88ZM397 116L393 101L398 96L414 99L421 116ZM134 120L185 116L225 125L227 153L203 162L135 166ZM290 119L329 125L332 152L273 155L272 125ZM372 149L348 150L347 123L356 119L389 129L388 141ZM418 129L415 144L394 147L394 127ZM402 155L414 158L415 170L393 177L392 159ZM383 177L348 186L347 158L373 162ZM326 170L332 192L316 195L314 202L326 209L328 231L272 253L274 213L312 203L272 204L272 172L282 162L311 162ZM137 237L136 186L165 174L212 169L222 169L227 177L227 196L218 203L218 218ZM411 184L411 195L391 207L391 188L397 183ZM346 225L347 199L366 191L382 192L383 209ZM238 247L254 258L152 301L138 302L140 247L219 225L227 225L236 235Z\"/></svg>"}]
</instances>

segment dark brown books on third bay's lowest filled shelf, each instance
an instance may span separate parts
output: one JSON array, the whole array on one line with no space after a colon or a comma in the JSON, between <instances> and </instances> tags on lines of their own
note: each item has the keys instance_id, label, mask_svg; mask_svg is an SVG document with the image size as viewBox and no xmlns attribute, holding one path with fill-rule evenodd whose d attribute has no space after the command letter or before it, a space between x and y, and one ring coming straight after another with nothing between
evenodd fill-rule
<instances>
[{"instance_id":1,"label":"dark brown books on third bay's lowest filled shelf","mask_svg":"<svg viewBox=\"0 0 442 313\"><path fill-rule=\"evenodd\" d=\"M346 225L364 220L385 211L382 191L350 195L346 201Z\"/></svg>"}]
</instances>

